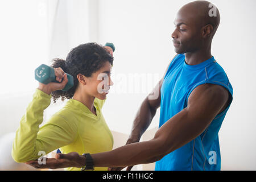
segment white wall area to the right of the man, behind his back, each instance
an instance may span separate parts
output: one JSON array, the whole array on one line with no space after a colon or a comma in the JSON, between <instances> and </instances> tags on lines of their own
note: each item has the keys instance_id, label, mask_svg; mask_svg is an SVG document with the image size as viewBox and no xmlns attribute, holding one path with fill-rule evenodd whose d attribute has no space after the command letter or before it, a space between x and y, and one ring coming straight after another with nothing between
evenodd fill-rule
<instances>
[{"instance_id":1,"label":"white wall area to the right of the man, behind his back","mask_svg":"<svg viewBox=\"0 0 256 182\"><path fill-rule=\"evenodd\" d=\"M254 59L256 1L216 1L222 20L213 44L232 82L233 104L220 131L222 169L256 169Z\"/></svg>"}]
</instances>

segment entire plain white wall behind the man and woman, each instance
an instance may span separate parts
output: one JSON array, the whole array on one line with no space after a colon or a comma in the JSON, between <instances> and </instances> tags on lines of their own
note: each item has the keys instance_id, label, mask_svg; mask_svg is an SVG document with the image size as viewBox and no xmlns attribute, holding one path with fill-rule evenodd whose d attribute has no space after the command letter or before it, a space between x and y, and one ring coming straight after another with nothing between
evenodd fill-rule
<instances>
[{"instance_id":1,"label":"entire plain white wall behind the man and woman","mask_svg":"<svg viewBox=\"0 0 256 182\"><path fill-rule=\"evenodd\" d=\"M58 11L60 21L66 22L56 22L52 26L51 17L56 12L52 9L49 11L49 2L6 0L0 3L0 137L18 128L19 119L37 86L35 67L47 63L49 57L65 58L71 48L85 42L115 44L114 86L110 89L103 111L111 130L129 134L141 102L163 76L175 55L171 42L175 14L181 6L191 1L89 0L88 3L74 1L72 5L71 1L61 0L61 8L64 9ZM221 13L212 54L225 69L234 89L233 104L220 130L222 170L255 170L253 93L256 88L256 1L211 2L217 5ZM81 6L77 3L81 3ZM91 8L88 10L88 7ZM59 34L54 31L54 26L59 28L55 31L63 35L56 37ZM68 30L60 31L65 26L68 26ZM19 73L18 76L16 73ZM133 77L136 73L138 75ZM45 119L62 106L61 102L49 106ZM158 121L159 111L150 129L158 126Z\"/></svg>"}]
</instances>

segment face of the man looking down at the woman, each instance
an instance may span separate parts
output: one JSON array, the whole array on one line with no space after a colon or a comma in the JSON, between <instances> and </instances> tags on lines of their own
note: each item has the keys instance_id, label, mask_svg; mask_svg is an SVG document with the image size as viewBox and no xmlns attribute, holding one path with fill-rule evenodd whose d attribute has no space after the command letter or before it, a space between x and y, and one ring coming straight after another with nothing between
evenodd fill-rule
<instances>
[{"instance_id":1,"label":"face of the man looking down at the woman","mask_svg":"<svg viewBox=\"0 0 256 182\"><path fill-rule=\"evenodd\" d=\"M195 52L200 49L200 23L195 16L180 10L174 21L175 30L172 33L176 53Z\"/></svg>"}]
</instances>

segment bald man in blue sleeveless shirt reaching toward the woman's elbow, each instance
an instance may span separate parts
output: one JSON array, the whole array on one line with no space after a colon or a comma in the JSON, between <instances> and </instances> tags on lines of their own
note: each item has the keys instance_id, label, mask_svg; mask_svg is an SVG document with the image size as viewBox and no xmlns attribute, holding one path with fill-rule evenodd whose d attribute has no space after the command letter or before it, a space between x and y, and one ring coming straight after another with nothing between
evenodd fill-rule
<instances>
[{"instance_id":1,"label":"bald man in blue sleeveless shirt reaching toward the woman's elbow","mask_svg":"<svg viewBox=\"0 0 256 182\"><path fill-rule=\"evenodd\" d=\"M220 23L218 9L207 1L181 7L172 33L177 55L135 117L126 146L99 154L58 154L39 168L126 167L156 162L155 170L220 170L218 131L233 100L226 73L211 55ZM139 142L160 106L159 130ZM131 167L129 167L130 169Z\"/></svg>"}]
</instances>

